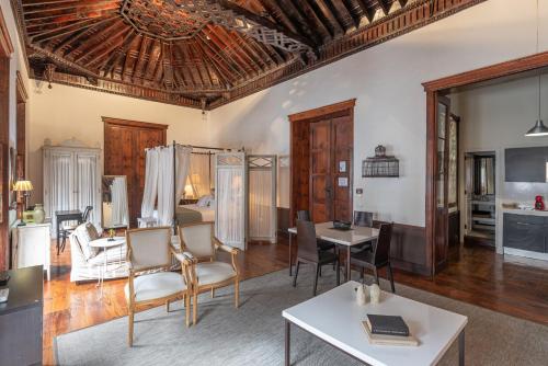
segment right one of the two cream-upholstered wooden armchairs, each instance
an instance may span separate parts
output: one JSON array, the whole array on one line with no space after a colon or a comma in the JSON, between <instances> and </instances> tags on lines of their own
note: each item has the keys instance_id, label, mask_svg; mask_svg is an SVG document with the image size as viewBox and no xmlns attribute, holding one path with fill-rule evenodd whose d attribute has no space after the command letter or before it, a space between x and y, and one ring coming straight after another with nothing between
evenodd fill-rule
<instances>
[{"instance_id":1,"label":"right one of the two cream-upholstered wooden armchairs","mask_svg":"<svg viewBox=\"0 0 548 366\"><path fill-rule=\"evenodd\" d=\"M240 272L237 255L239 250L222 244L214 235L213 222L197 222L179 228L181 249L193 265L189 267L193 295L193 322L197 321L198 294L235 285L235 306L239 306ZM231 254L231 263L216 261L216 251L222 250Z\"/></svg>"}]
</instances>

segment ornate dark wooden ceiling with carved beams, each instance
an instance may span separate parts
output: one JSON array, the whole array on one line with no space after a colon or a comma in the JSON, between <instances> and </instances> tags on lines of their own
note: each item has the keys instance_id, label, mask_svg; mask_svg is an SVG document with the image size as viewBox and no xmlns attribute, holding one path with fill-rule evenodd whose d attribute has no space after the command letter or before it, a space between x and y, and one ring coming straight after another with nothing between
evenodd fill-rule
<instances>
[{"instance_id":1,"label":"ornate dark wooden ceiling with carved beams","mask_svg":"<svg viewBox=\"0 0 548 366\"><path fill-rule=\"evenodd\" d=\"M210 110L482 1L12 0L12 5L33 78Z\"/></svg>"}]
</instances>

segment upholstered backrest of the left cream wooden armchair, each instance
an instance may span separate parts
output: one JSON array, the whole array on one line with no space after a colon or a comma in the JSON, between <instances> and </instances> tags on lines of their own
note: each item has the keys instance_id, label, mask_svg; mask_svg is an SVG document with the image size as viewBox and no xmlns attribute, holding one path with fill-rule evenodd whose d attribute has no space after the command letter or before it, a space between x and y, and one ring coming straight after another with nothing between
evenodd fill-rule
<instances>
[{"instance_id":1,"label":"upholstered backrest of the left cream wooden armchair","mask_svg":"<svg viewBox=\"0 0 548 366\"><path fill-rule=\"evenodd\" d=\"M136 272L171 265L171 227L127 230L126 243L127 261Z\"/></svg>"}]
</instances>

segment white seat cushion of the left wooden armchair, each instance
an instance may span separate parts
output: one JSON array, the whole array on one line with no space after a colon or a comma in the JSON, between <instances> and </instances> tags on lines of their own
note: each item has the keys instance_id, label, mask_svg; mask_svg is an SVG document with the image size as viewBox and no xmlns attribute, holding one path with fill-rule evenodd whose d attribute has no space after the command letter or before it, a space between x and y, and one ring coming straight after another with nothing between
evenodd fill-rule
<instances>
[{"instance_id":1,"label":"white seat cushion of the left wooden armchair","mask_svg":"<svg viewBox=\"0 0 548 366\"><path fill-rule=\"evenodd\" d=\"M159 299L182 293L186 289L183 276L174 272L158 272L134 278L136 301ZM124 287L126 299L129 299L129 283Z\"/></svg>"}]
</instances>

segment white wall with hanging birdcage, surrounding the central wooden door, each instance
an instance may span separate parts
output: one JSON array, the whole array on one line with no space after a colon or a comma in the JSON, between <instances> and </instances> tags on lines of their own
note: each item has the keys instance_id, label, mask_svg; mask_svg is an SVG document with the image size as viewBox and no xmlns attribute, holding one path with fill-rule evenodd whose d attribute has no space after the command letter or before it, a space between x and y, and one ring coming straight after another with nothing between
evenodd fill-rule
<instances>
[{"instance_id":1,"label":"white wall with hanging birdcage, surrounding the central wooden door","mask_svg":"<svg viewBox=\"0 0 548 366\"><path fill-rule=\"evenodd\" d=\"M335 64L214 110L212 141L289 152L287 115L357 98L354 207L424 226L425 104L422 82L536 53L536 1L490 0ZM540 1L540 50L548 49L548 1ZM548 119L548 118L546 118ZM378 144L400 159L401 178L361 178ZM287 193L288 194L288 193Z\"/></svg>"}]
</instances>

